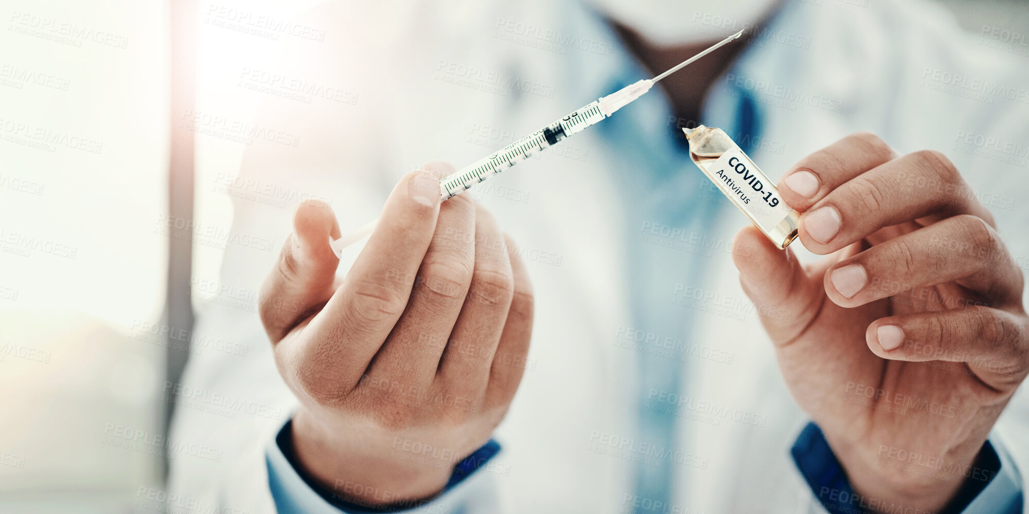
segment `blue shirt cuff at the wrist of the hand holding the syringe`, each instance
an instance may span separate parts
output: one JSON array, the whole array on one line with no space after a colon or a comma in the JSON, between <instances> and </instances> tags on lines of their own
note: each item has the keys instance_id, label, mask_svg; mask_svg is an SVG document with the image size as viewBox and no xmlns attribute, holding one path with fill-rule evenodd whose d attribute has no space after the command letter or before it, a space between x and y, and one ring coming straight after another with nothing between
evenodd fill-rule
<instances>
[{"instance_id":1,"label":"blue shirt cuff at the wrist of the hand holding the syringe","mask_svg":"<svg viewBox=\"0 0 1029 514\"><path fill-rule=\"evenodd\" d=\"M450 481L443 490L432 500L393 504L380 507L361 504L355 499L345 498L346 490L334 492L315 483L297 466L292 455L292 419L285 423L278 435L265 449L268 464L269 488L278 512L282 514L365 514L380 512L420 512L430 514L446 514L460 507L474 489L483 488L483 480L473 479L475 473L500 451L500 445L493 440L464 458L454 467ZM347 486L345 486L346 488ZM360 485L353 485L360 487ZM374 491L376 497L382 497L384 503L389 502L389 491Z\"/></svg>"}]
</instances>

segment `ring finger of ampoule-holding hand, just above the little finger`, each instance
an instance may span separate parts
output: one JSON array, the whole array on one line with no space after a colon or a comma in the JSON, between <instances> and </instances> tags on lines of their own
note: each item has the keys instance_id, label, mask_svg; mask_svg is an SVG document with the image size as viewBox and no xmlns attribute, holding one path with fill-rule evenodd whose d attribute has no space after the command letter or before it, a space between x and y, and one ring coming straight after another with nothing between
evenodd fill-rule
<instances>
[{"instance_id":1,"label":"ring finger of ampoule-holding hand, just above the little finger","mask_svg":"<svg viewBox=\"0 0 1029 514\"><path fill-rule=\"evenodd\" d=\"M890 296L911 296L946 308L979 303L968 295L927 289L949 282L995 304L1021 304L1021 271L996 230L971 215L947 218L876 245L833 264L824 280L826 294L844 307Z\"/></svg>"}]
</instances>

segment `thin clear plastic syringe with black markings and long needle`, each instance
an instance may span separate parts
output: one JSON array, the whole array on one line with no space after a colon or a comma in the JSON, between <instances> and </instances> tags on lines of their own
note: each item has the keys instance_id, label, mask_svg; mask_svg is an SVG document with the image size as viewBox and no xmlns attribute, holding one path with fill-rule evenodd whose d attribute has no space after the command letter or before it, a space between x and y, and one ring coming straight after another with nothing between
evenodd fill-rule
<instances>
[{"instance_id":1,"label":"thin clear plastic syringe with black markings and long needle","mask_svg":"<svg viewBox=\"0 0 1029 514\"><path fill-rule=\"evenodd\" d=\"M582 131L587 126L590 126L610 116L611 114L614 114L614 111L622 109L623 107L629 105L632 101L642 97L643 94L650 90L650 87L653 86L654 82L679 71L686 65L704 56L707 56L721 45L740 37L742 34L743 31L737 32L732 36L722 39L710 48L707 48L706 50L679 63L678 65L675 65L675 67L669 69L661 75L658 75L657 77L645 78L629 84L622 89L603 97L596 102L592 102L586 107L582 107L581 109L578 109L575 112L572 112L571 114L540 128L539 131L536 131L501 148L496 153L484 157L478 161L445 177L439 181L440 201L471 188L475 184L478 184L480 182L483 182L486 179L529 158L534 153L541 152L547 147L556 145L559 141ZM339 240L330 241L332 251L335 252L335 255L339 257L345 248L370 234L376 229L377 223L379 223L378 219L340 237Z\"/></svg>"}]
</instances>

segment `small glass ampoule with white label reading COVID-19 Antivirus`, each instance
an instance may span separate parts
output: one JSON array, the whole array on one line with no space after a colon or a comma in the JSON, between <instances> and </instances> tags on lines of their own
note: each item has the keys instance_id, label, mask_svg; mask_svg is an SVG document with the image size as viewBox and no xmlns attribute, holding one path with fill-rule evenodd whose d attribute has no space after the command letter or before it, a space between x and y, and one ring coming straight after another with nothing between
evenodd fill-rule
<instances>
[{"instance_id":1,"label":"small glass ampoule with white label reading COVID-19 Antivirus","mask_svg":"<svg viewBox=\"0 0 1029 514\"><path fill-rule=\"evenodd\" d=\"M689 157L718 189L780 250L796 238L800 214L779 195L775 184L721 128L683 128Z\"/></svg>"}]
</instances>

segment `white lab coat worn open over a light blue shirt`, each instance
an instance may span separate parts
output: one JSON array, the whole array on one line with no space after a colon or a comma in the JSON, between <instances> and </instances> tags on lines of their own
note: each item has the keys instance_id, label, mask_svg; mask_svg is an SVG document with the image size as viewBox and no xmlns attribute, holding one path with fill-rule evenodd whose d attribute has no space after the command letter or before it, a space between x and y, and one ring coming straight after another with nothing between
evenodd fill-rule
<instances>
[{"instance_id":1,"label":"white lab coat worn open over a light blue shirt","mask_svg":"<svg viewBox=\"0 0 1029 514\"><path fill-rule=\"evenodd\" d=\"M568 59L611 59L603 56L604 48L566 47L562 54L505 40L500 36L517 36L519 29L507 31L502 21L535 25L544 32L567 31L567 25L562 9L549 2L498 3L320 7L313 20L347 30L329 31L324 43L287 46L280 66L308 80L345 84L358 93L356 105L269 102L258 122L297 135L300 144L255 142L241 176L329 198L346 232L375 218L392 184L415 166L432 159L463 166L507 144L510 137L595 100L567 95L577 89L567 84L564 68ZM801 157L858 131L877 133L901 152L941 150L981 198L995 203L1000 231L1025 265L1026 169L965 153L961 149L969 146L961 145L959 134L1025 145L1029 105L941 93L934 89L939 81L933 80L935 70L942 70L1026 89L1025 58L1018 62L978 44L980 39L959 36L945 12L921 2L861 6L823 0L820 5L787 2L785 9L792 21L783 30L806 38L808 48L776 42L780 36L773 35L735 68L772 84L756 90L767 141L764 149L752 152L753 159L776 180ZM536 89L519 97L454 85L440 79L465 73L460 68L448 72L452 66L513 74L533 81ZM591 78L597 77L579 79ZM469 83L484 87L481 82ZM803 101L790 104L781 97L783 90L827 99L822 107L828 108L817 107L820 101L814 100L815 107ZM842 107L836 110L832 102ZM671 130L666 119L655 119L654 126L657 133ZM493 128L496 137L490 135ZM564 155L556 147L475 193L505 231L538 251L535 260L527 260L536 296L531 369L497 430L504 450L496 457L496 473L480 471L461 491L491 489L499 505L483 507L487 512L612 513L632 506L627 498L633 494L633 464L587 449L594 432L633 437L636 398L629 384L638 372L636 354L615 344L615 334L619 327L645 330L633 327L629 316L627 264L618 251L627 229L618 191L607 174L596 171L605 166L608 152L599 141L584 132L562 143L568 147ZM988 156L1000 154L981 150ZM276 243L273 252L240 245L225 251L222 283L256 291L290 230L290 211L246 199L236 199L234 206L234 230ZM728 244L745 220L735 211L723 212L721 226L713 232L724 234ZM714 246L710 289L745 299L725 246ZM801 250L799 244L792 248ZM557 256L560 265L555 264ZM683 420L679 447L707 457L707 464L705 469L676 468L676 497L669 512L821 511L788 452L808 419L784 387L756 314L749 311L742 321L703 313L696 319L694 340L731 352L734 359L731 365L700 360L685 378L685 394L767 421L756 427L726 419L717 426ZM194 355L182 384L272 410L251 409L264 413L252 414L243 409L228 417L180 406L174 436L220 450L223 458L174 461L169 490L249 513L273 511L264 449L295 399L276 371L252 309L211 304L199 313L197 332L248 344L249 353ZM1022 470L1029 470L1026 400L1024 392L1018 395L997 425L998 437Z\"/></svg>"}]
</instances>

